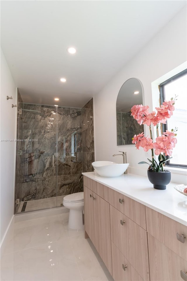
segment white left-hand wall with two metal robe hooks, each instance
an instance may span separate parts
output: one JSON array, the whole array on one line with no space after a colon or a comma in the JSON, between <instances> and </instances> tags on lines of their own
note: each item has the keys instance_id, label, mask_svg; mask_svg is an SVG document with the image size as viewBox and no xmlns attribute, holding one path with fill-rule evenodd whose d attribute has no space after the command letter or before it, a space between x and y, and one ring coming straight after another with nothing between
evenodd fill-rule
<instances>
[{"instance_id":1,"label":"white left-hand wall with two metal robe hooks","mask_svg":"<svg viewBox=\"0 0 187 281\"><path fill-rule=\"evenodd\" d=\"M7 100L6 96L12 96ZM14 80L1 50L0 140L16 139L17 94ZM1 244L13 218L16 142L0 141Z\"/></svg>"}]
</instances>

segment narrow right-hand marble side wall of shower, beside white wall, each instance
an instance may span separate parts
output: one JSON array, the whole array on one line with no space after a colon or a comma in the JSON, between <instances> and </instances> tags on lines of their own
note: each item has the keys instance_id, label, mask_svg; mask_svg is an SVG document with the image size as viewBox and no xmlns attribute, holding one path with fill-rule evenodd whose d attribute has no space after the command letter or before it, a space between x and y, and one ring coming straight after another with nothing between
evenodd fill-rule
<instances>
[{"instance_id":1,"label":"narrow right-hand marble side wall of shower, beside white wall","mask_svg":"<svg viewBox=\"0 0 187 281\"><path fill-rule=\"evenodd\" d=\"M91 163L95 161L93 131L93 98L82 108L82 169L92 172Z\"/></svg>"}]
</instances>

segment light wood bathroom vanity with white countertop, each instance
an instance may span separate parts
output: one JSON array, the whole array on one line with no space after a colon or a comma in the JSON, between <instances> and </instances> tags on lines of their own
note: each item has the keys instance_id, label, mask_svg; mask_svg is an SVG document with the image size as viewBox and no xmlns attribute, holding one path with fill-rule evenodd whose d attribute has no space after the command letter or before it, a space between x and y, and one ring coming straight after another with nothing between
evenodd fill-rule
<instances>
[{"instance_id":1,"label":"light wood bathroom vanity with white countertop","mask_svg":"<svg viewBox=\"0 0 187 281\"><path fill-rule=\"evenodd\" d=\"M85 238L114 280L187 280L187 202L170 183L146 177L84 176Z\"/></svg>"}]
</instances>

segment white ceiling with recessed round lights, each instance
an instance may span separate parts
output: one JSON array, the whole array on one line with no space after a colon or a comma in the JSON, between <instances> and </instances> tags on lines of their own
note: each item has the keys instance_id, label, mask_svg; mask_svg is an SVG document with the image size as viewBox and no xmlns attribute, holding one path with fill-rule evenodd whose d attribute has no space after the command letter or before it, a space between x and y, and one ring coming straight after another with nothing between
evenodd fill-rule
<instances>
[{"instance_id":1,"label":"white ceiling with recessed round lights","mask_svg":"<svg viewBox=\"0 0 187 281\"><path fill-rule=\"evenodd\" d=\"M185 4L1 0L1 48L25 102L82 107Z\"/></svg>"}]
</instances>

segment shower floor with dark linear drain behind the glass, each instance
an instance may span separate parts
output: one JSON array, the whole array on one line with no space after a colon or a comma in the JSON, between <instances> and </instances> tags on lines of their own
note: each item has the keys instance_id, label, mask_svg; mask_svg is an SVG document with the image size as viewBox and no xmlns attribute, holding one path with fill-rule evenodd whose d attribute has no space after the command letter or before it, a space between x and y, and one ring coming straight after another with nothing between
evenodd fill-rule
<instances>
[{"instance_id":1,"label":"shower floor with dark linear drain behind the glass","mask_svg":"<svg viewBox=\"0 0 187 281\"><path fill-rule=\"evenodd\" d=\"M18 209L18 213L63 206L61 204L63 202L64 196L57 196L57 199L56 197L51 197L51 198L31 200L31 201L22 201Z\"/></svg>"}]
</instances>

